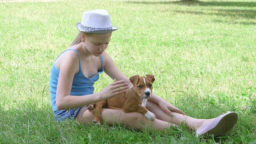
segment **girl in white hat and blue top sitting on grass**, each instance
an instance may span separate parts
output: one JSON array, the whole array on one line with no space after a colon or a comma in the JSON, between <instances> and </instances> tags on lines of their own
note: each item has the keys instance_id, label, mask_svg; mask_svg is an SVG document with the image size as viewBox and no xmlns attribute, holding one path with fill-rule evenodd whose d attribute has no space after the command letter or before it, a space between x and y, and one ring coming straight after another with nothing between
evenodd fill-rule
<instances>
[{"instance_id":1,"label":"girl in white hat and blue top sitting on grass","mask_svg":"<svg viewBox=\"0 0 256 144\"><path fill-rule=\"evenodd\" d=\"M93 103L124 93L132 84L105 52L112 32L118 30L118 27L112 26L108 12L86 11L76 27L80 31L78 36L52 66L50 96L56 120L76 119L89 124L94 118L90 110ZM100 92L93 93L93 84L102 72L114 82ZM148 120L138 112L125 113L123 110L105 108L100 113L101 120L136 129L153 127L160 131L183 122L196 131L197 137L204 134L219 136L231 131L238 120L236 112L227 112L212 119L192 118L156 94L148 99L146 108L156 115L155 120Z\"/></svg>"}]
</instances>

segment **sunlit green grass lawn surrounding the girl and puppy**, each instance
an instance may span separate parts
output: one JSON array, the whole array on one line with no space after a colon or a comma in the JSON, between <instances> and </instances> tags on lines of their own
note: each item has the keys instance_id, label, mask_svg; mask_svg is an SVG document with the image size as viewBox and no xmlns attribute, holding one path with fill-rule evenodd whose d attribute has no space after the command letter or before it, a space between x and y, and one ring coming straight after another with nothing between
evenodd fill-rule
<instances>
[{"instance_id":1,"label":"sunlit green grass lawn surrounding the girl and puppy","mask_svg":"<svg viewBox=\"0 0 256 144\"><path fill-rule=\"evenodd\" d=\"M127 76L154 74L154 93L195 118L238 112L231 134L198 140L182 126L164 133L58 123L50 105L55 58L85 10L104 8L106 50ZM256 1L0 0L0 143L256 143ZM112 82L106 74L96 92Z\"/></svg>"}]
</instances>

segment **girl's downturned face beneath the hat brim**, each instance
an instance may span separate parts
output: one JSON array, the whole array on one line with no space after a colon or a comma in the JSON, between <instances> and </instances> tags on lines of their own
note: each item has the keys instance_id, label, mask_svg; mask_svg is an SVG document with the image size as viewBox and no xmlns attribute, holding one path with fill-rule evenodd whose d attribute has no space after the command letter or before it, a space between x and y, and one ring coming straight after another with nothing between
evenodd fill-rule
<instances>
[{"instance_id":1,"label":"girl's downturned face beneath the hat brim","mask_svg":"<svg viewBox=\"0 0 256 144\"><path fill-rule=\"evenodd\" d=\"M108 47L111 34L111 32L105 34L84 34L85 48L90 54L100 56Z\"/></svg>"}]
</instances>

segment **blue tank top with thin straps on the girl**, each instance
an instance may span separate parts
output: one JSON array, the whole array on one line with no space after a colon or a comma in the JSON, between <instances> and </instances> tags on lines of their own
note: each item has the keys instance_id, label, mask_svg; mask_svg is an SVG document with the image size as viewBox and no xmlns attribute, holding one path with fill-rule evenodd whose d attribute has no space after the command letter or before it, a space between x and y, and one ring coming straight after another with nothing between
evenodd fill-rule
<instances>
[{"instance_id":1,"label":"blue tank top with thin straps on the girl","mask_svg":"<svg viewBox=\"0 0 256 144\"><path fill-rule=\"evenodd\" d=\"M67 51L67 50L74 50L74 49L66 49L65 51ZM74 75L70 95L83 96L83 95L92 94L94 92L94 86L93 86L94 82L96 82L99 79L99 74L104 71L102 55L100 55L100 60L101 60L101 64L102 64L101 69L98 71L97 74L95 74L91 78L87 78L84 76L84 74L82 72L80 56L76 50L74 50L74 51L77 53L78 58L79 58L79 72ZM52 65L51 76L50 76L50 96L51 96L52 110L54 112L57 110L56 90L57 90L59 74L60 74L60 70L56 67L55 61L54 61L53 65Z\"/></svg>"}]
</instances>

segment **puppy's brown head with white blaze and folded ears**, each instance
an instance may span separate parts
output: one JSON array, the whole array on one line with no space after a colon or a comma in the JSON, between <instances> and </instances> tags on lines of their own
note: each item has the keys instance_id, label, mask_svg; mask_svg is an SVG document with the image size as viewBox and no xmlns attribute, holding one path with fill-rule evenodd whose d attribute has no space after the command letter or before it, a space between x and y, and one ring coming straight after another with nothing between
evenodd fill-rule
<instances>
[{"instance_id":1,"label":"puppy's brown head with white blaze and folded ears","mask_svg":"<svg viewBox=\"0 0 256 144\"><path fill-rule=\"evenodd\" d=\"M134 92L140 99L148 99L152 96L152 84L155 81L154 75L146 74L146 76L131 76L130 82L133 84Z\"/></svg>"}]
</instances>

